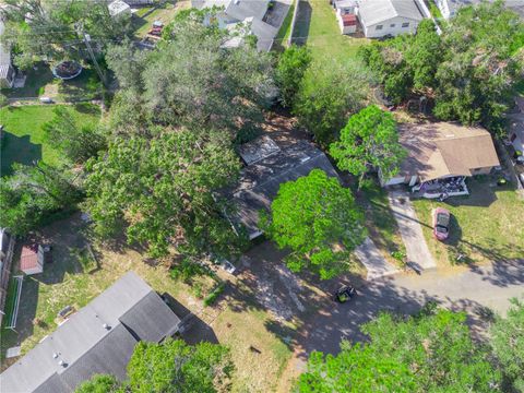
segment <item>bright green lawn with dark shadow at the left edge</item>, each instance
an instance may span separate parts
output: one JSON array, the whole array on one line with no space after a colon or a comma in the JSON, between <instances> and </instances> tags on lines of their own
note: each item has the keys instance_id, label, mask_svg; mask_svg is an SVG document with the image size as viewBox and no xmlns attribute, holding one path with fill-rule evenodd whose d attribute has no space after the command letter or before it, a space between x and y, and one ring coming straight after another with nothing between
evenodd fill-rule
<instances>
[{"instance_id":1,"label":"bright green lawn with dark shadow at the left edge","mask_svg":"<svg viewBox=\"0 0 524 393\"><path fill-rule=\"evenodd\" d=\"M50 146L44 136L43 124L53 117L53 105L26 105L3 107L0 109L0 123L3 124L1 140L2 176L10 175L12 164L31 165L36 159L46 164L59 164L62 158L55 146ZM75 119L83 123L94 123L100 117L100 110L92 104L69 106Z\"/></svg>"}]
</instances>

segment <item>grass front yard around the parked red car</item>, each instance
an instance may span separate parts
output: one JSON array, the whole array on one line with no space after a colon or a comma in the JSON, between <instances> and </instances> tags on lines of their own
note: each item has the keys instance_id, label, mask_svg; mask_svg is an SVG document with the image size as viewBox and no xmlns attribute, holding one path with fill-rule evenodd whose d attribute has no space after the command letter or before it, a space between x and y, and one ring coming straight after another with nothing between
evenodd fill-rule
<instances>
[{"instance_id":1,"label":"grass front yard around the parked red car","mask_svg":"<svg viewBox=\"0 0 524 393\"><path fill-rule=\"evenodd\" d=\"M497 187L496 179L469 179L471 195L413 202L422 224L429 250L440 266L458 263L483 263L512 260L524 255L524 200L511 187ZM437 241L431 233L431 211L448 209L453 217L450 238Z\"/></svg>"}]
</instances>

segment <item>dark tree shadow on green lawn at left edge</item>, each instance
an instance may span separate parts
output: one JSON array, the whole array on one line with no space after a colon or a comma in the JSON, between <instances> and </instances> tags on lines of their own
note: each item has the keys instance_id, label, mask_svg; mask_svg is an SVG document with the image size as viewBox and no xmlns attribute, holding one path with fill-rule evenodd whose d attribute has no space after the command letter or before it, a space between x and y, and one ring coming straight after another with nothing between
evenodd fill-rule
<instances>
[{"instance_id":1,"label":"dark tree shadow on green lawn at left edge","mask_svg":"<svg viewBox=\"0 0 524 393\"><path fill-rule=\"evenodd\" d=\"M41 159L41 144L32 143L29 135L16 136L3 130L0 138L0 176L12 175L14 163L34 165Z\"/></svg>"}]
</instances>

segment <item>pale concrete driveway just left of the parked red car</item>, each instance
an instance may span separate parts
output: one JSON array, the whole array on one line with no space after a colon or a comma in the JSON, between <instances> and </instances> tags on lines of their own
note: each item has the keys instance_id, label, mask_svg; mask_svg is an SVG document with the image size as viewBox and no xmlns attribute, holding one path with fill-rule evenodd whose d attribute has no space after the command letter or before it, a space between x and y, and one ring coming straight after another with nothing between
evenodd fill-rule
<instances>
[{"instance_id":1,"label":"pale concrete driveway just left of the parked red car","mask_svg":"<svg viewBox=\"0 0 524 393\"><path fill-rule=\"evenodd\" d=\"M409 195L403 191L390 191L388 198L393 215L398 224L402 240L406 246L408 262L416 263L422 269L437 267L433 257L431 257L428 250L420 222L412 201L409 201Z\"/></svg>"}]
</instances>

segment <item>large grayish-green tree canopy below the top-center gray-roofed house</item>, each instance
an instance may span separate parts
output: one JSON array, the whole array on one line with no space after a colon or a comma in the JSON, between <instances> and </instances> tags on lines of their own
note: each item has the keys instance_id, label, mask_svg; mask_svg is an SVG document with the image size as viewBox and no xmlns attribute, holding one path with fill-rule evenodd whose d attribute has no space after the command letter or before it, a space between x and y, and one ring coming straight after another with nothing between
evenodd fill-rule
<instances>
[{"instance_id":1,"label":"large grayish-green tree canopy below the top-center gray-roofed house","mask_svg":"<svg viewBox=\"0 0 524 393\"><path fill-rule=\"evenodd\" d=\"M275 90L272 57L247 43L225 49L234 33L199 19L177 20L169 32L146 55L129 43L111 47L107 61L123 87L119 95L133 96L118 100L119 110L136 111L143 126L213 127L231 139L257 127Z\"/></svg>"}]
</instances>

